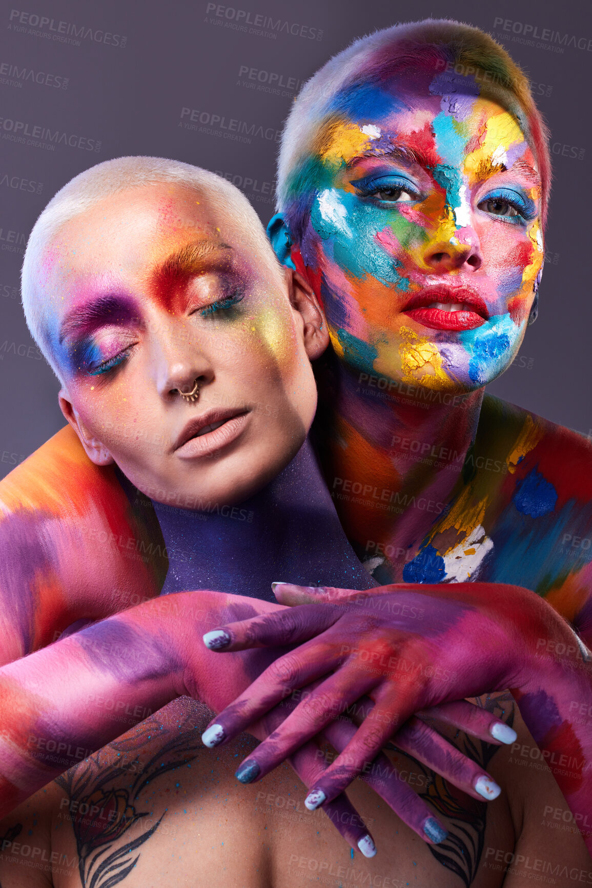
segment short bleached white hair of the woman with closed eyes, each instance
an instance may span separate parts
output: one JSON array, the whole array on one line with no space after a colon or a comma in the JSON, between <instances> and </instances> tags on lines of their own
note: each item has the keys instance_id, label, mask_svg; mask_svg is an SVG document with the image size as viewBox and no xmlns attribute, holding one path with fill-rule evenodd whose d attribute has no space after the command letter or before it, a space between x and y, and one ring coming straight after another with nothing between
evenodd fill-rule
<instances>
[{"instance_id":1,"label":"short bleached white hair of the woman with closed eyes","mask_svg":"<svg viewBox=\"0 0 592 888\"><path fill-rule=\"evenodd\" d=\"M245 233L261 250L262 257L274 267L278 260L267 239L257 212L236 186L209 170L190 163L168 160L164 157L116 157L97 163L70 179L47 204L28 238L27 250L20 275L22 305L31 336L43 353L51 369L63 382L58 362L51 350L46 302L39 269L43 255L60 228L85 210L110 197L144 185L162 182L176 183L214 194L217 205L223 206L237 218Z\"/></svg>"}]
</instances>

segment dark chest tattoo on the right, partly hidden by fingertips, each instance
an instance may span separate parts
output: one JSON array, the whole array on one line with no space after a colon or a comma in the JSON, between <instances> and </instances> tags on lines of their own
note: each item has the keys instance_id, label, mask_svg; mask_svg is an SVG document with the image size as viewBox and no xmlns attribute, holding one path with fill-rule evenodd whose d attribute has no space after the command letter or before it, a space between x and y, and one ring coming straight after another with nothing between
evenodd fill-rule
<instances>
[{"instance_id":1,"label":"dark chest tattoo on the right, partly hidden by fingertips","mask_svg":"<svg viewBox=\"0 0 592 888\"><path fill-rule=\"evenodd\" d=\"M511 694L495 694L487 697L485 702L483 698L478 700L478 704L505 721L509 727L512 726L516 704ZM448 740L456 749L460 749L465 756L472 758L484 768L500 749L495 743L475 740L461 731L454 739L448 738ZM467 796L430 768L415 759L414 762L426 778L424 784L426 789L418 795L433 805L448 829L448 836L444 842L428 845L430 852L438 863L459 876L466 888L469 888L477 876L483 853L487 803Z\"/></svg>"}]
</instances>

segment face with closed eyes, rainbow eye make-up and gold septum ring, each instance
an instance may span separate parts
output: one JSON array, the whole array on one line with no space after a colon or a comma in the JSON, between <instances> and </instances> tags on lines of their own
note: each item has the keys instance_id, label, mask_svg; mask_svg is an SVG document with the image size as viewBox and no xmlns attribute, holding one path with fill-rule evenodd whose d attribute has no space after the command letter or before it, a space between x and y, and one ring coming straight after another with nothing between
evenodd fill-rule
<instances>
[{"instance_id":1,"label":"face with closed eyes, rainbow eye make-up and gold septum ring","mask_svg":"<svg viewBox=\"0 0 592 888\"><path fill-rule=\"evenodd\" d=\"M263 487L316 406L287 282L214 197L114 194L59 230L43 269L62 406L87 453L189 508ZM179 396L196 380L197 405Z\"/></svg>"}]
</instances>

